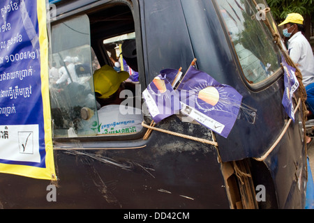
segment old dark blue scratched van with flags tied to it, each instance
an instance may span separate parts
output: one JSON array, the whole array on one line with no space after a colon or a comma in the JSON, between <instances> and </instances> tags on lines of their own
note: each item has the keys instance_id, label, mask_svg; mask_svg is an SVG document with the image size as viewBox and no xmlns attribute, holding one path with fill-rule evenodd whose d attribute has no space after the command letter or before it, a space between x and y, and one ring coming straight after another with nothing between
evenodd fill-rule
<instances>
[{"instance_id":1,"label":"old dark blue scratched van with flags tied to it","mask_svg":"<svg viewBox=\"0 0 314 223\"><path fill-rule=\"evenodd\" d=\"M266 9L262 0L50 1L50 63L80 64L76 84L50 82L57 200L47 199L50 180L1 174L1 208L304 208L301 86L291 121L282 104L287 55ZM99 134L93 74L114 68L110 57L128 39L142 125ZM227 137L181 113L151 125L144 112L142 93L160 70L184 73L194 59L243 97Z\"/></svg>"}]
</instances>

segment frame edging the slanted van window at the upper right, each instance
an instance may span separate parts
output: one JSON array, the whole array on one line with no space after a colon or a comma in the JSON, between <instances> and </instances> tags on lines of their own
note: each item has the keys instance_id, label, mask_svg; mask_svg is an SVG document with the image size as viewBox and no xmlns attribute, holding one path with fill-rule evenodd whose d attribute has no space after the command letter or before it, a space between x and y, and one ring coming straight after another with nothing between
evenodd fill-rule
<instances>
[{"instance_id":1,"label":"frame edging the slanted van window at the upper right","mask_svg":"<svg viewBox=\"0 0 314 223\"><path fill-rule=\"evenodd\" d=\"M263 89L267 89L267 87L269 87L272 84L274 84L275 82L277 82L278 79L281 79L281 77L283 75L283 68L282 67L275 70L271 76L267 77L266 79L263 79L261 82L257 82L256 84L251 84L248 82L248 80L246 79L246 77L244 75L244 71L242 70L242 66L241 66L241 63L239 61L237 51L234 48L234 44L233 44L233 42L229 36L229 30L228 30L227 26L225 25L225 20L223 19L223 16L220 13L220 6L218 6L218 0L211 0L211 1L214 5L214 8L215 8L216 13L218 15L218 20L220 21L221 27L225 33L225 38L226 38L227 43L229 45L230 52L232 53L232 57L233 57L233 60L235 62L235 65L237 66L239 76L241 77L242 82L246 85L246 87L253 92L259 92L259 91L262 91ZM270 13L267 13L267 16L268 16L268 18L271 18L271 21L274 21L274 17L272 17L272 15ZM276 43L274 43L274 46L276 47L276 49L278 50L278 52L281 56L282 53L281 53L279 47L276 45Z\"/></svg>"}]
</instances>

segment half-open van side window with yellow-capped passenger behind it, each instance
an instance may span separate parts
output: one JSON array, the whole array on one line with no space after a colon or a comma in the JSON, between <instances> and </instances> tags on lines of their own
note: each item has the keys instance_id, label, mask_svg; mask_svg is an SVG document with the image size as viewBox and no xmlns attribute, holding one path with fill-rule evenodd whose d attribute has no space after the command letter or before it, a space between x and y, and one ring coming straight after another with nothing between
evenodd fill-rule
<instances>
[{"instance_id":1,"label":"half-open van side window with yellow-capped passenger behind it","mask_svg":"<svg viewBox=\"0 0 314 223\"><path fill-rule=\"evenodd\" d=\"M132 13L121 4L109 7L52 26L54 138L121 136L142 130L142 110L135 102L141 98Z\"/></svg>"}]
</instances>

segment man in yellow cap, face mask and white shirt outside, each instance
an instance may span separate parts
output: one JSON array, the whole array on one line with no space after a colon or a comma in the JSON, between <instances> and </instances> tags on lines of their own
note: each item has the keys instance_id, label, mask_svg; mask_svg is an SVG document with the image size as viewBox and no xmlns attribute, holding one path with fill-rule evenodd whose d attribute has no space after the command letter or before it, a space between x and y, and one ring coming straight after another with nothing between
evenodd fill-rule
<instances>
[{"instance_id":1,"label":"man in yellow cap, face mask and white shirt outside","mask_svg":"<svg viewBox=\"0 0 314 223\"><path fill-rule=\"evenodd\" d=\"M314 114L314 56L310 43L301 33L303 17L299 13L290 13L278 26L283 25L283 36L287 41L289 55L302 74L302 82L306 87L308 107Z\"/></svg>"}]
</instances>

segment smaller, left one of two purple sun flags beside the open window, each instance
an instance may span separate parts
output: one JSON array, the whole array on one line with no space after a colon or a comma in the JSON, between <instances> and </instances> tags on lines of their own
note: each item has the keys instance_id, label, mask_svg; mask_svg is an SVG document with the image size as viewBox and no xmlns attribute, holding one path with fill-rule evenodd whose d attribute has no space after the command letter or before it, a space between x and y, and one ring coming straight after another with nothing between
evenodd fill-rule
<instances>
[{"instance_id":1,"label":"smaller, left one of two purple sun flags beside the open window","mask_svg":"<svg viewBox=\"0 0 314 223\"><path fill-rule=\"evenodd\" d=\"M172 69L168 71L171 71L169 72L170 75L167 75L167 72L163 72L163 74L155 77L147 89L143 91L143 97L155 123L172 114L179 113L181 109L179 95L172 88L172 84L170 84L170 82L174 81L178 70L177 72L174 72Z\"/></svg>"}]
</instances>

